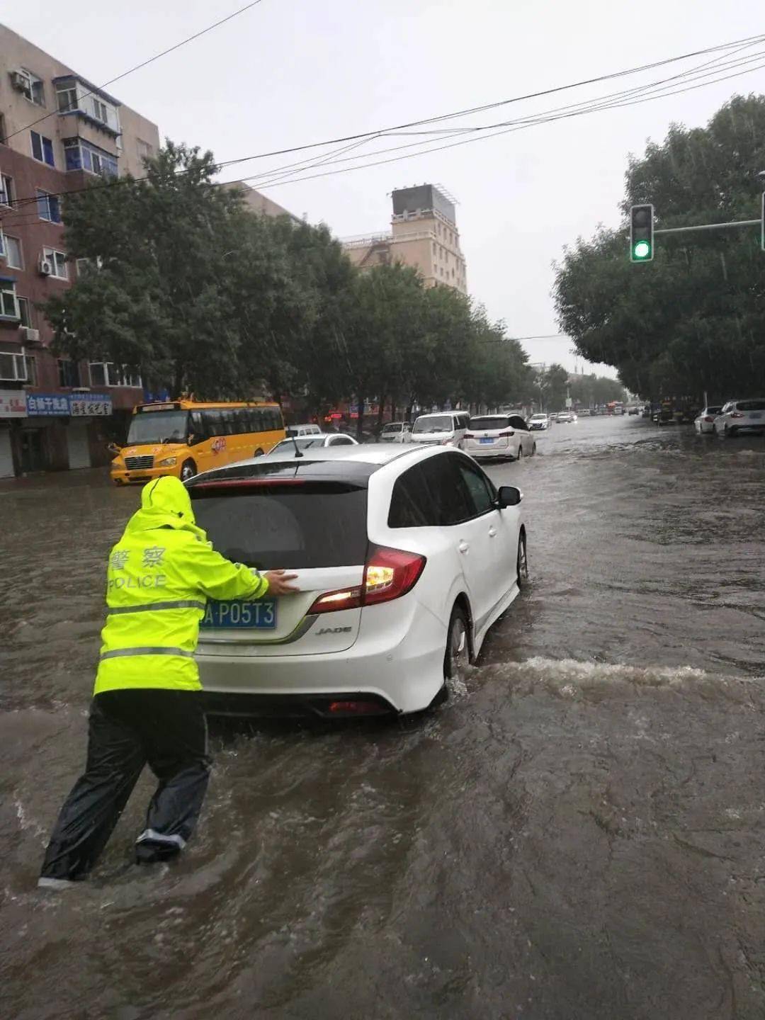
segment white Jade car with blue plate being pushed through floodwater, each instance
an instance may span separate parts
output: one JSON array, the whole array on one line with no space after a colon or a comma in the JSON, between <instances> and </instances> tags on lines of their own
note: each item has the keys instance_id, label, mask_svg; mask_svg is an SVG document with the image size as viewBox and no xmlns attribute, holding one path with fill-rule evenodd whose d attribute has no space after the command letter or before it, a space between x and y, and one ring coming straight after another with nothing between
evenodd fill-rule
<instances>
[{"instance_id":1,"label":"white Jade car with blue plate being pushed through floodwater","mask_svg":"<svg viewBox=\"0 0 765 1020\"><path fill-rule=\"evenodd\" d=\"M438 704L527 574L520 492L498 491L454 449L260 457L198 474L189 494L224 556L294 570L300 586L208 603L197 660L213 713L338 717Z\"/></svg>"}]
</instances>

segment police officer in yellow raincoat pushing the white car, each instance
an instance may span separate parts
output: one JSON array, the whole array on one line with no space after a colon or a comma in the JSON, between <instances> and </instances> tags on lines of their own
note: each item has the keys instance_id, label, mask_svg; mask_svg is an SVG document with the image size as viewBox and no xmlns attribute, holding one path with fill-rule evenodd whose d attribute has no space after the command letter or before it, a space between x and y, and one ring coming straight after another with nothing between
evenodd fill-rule
<instances>
[{"instance_id":1,"label":"police officer in yellow raincoat pushing the white car","mask_svg":"<svg viewBox=\"0 0 765 1020\"><path fill-rule=\"evenodd\" d=\"M194 661L206 600L288 595L296 576L261 575L216 553L177 478L144 487L141 509L109 556L86 770L58 816L39 885L62 887L88 874L147 763L159 785L136 860L167 860L186 846L209 773Z\"/></svg>"}]
</instances>

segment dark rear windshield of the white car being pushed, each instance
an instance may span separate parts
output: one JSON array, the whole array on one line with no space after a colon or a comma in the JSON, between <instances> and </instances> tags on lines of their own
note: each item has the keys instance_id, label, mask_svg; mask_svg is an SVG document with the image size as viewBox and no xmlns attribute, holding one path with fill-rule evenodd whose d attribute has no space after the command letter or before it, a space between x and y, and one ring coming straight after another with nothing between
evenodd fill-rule
<instances>
[{"instance_id":1,"label":"dark rear windshield of the white car being pushed","mask_svg":"<svg viewBox=\"0 0 765 1020\"><path fill-rule=\"evenodd\" d=\"M209 486L209 488L208 488ZM190 489L213 548L259 570L340 567L366 558L366 488L344 481L223 481Z\"/></svg>"}]
</instances>

